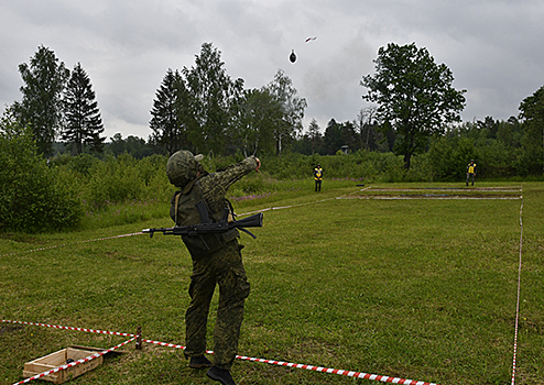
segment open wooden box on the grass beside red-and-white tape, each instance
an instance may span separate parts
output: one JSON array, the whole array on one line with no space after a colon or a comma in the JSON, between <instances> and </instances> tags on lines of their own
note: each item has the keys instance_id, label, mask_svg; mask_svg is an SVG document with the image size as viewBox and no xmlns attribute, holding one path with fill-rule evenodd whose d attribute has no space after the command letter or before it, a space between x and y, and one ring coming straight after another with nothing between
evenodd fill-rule
<instances>
[{"instance_id":1,"label":"open wooden box on the grass beside red-and-white tape","mask_svg":"<svg viewBox=\"0 0 544 385\"><path fill-rule=\"evenodd\" d=\"M59 350L58 352L51 353L41 359L36 359L24 364L23 377L30 378L36 374L51 371L57 366L63 366L67 364L69 359L78 361L95 353L104 351L97 348L86 348L86 346L68 346L66 349ZM78 365L70 366L64 371L58 371L50 375L40 377L40 380L51 381L55 384L62 384L66 381L77 377L88 371L94 370L104 362L104 355L96 358L88 362L83 362Z\"/></svg>"}]
</instances>

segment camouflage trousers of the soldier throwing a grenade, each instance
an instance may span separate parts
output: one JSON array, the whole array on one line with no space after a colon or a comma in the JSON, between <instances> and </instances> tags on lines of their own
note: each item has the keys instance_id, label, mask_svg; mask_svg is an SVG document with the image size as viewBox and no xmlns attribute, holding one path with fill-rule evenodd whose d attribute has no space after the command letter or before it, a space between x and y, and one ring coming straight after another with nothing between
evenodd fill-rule
<instances>
[{"instance_id":1,"label":"camouflage trousers of the soldier throwing a grenade","mask_svg":"<svg viewBox=\"0 0 544 385\"><path fill-rule=\"evenodd\" d=\"M219 285L219 307L214 330L214 364L230 370L238 353L243 305L250 289L238 240L207 256L193 258L191 304L185 314L186 356L198 356L206 351L209 305L216 285Z\"/></svg>"}]
</instances>

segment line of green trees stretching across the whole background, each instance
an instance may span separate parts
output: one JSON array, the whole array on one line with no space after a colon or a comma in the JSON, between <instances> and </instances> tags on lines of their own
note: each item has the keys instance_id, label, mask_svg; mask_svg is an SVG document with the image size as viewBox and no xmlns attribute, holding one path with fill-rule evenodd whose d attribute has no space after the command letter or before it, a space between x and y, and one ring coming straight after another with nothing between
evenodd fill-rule
<instances>
[{"instance_id":1,"label":"line of green trees stretching across the whole background","mask_svg":"<svg viewBox=\"0 0 544 385\"><path fill-rule=\"evenodd\" d=\"M148 140L118 133L106 142L85 69L78 63L69 72L53 51L40 46L29 64L19 66L22 100L9 106L4 116L29 127L39 152L47 157L106 152L141 158L178 148L215 156L365 150L402 156L409 170L414 155L447 146L449 153L466 153L463 162L487 157L477 161L500 164L494 166L497 175L543 173L544 87L521 101L518 117L460 122L466 90L453 88L453 73L436 64L426 48L390 43L379 50L374 63L374 74L360 81L367 90L362 99L371 107L350 121L330 119L325 128L313 119L305 130L306 100L282 70L268 85L244 89L243 79L228 75L220 51L204 43L193 66L166 72L150 111ZM451 162L450 168L459 167Z\"/></svg>"}]
</instances>

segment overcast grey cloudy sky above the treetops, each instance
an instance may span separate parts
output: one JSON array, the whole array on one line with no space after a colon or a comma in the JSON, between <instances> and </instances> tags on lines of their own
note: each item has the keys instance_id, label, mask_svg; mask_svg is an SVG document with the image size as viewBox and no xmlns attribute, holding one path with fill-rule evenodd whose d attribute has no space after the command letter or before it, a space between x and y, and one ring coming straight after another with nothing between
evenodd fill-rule
<instances>
[{"instance_id":1,"label":"overcast grey cloudy sky above the treetops","mask_svg":"<svg viewBox=\"0 0 544 385\"><path fill-rule=\"evenodd\" d=\"M43 45L81 64L108 141L146 140L168 68L211 43L247 89L283 70L306 99L304 130L315 119L324 132L370 107L360 80L380 47L415 43L467 90L464 121L507 120L544 85L543 20L542 0L0 0L0 106L21 100L19 65Z\"/></svg>"}]
</instances>

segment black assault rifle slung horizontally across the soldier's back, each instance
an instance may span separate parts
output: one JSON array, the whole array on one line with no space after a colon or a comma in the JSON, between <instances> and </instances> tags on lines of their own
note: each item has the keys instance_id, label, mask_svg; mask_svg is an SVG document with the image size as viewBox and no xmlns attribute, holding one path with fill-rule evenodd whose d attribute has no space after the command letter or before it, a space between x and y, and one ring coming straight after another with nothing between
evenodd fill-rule
<instances>
[{"instance_id":1,"label":"black assault rifle slung horizontally across the soldier's back","mask_svg":"<svg viewBox=\"0 0 544 385\"><path fill-rule=\"evenodd\" d=\"M262 227L262 212L255 213L251 217L243 218L237 221L228 221L229 210L225 209L225 213L219 222L206 221L200 224L191 226L175 226L173 228L160 228L160 229L144 229L143 233L149 233L150 238L153 238L155 232L162 232L164 235L202 235L227 232L230 229L238 229L253 238L257 238L244 228L260 228Z\"/></svg>"}]
</instances>

